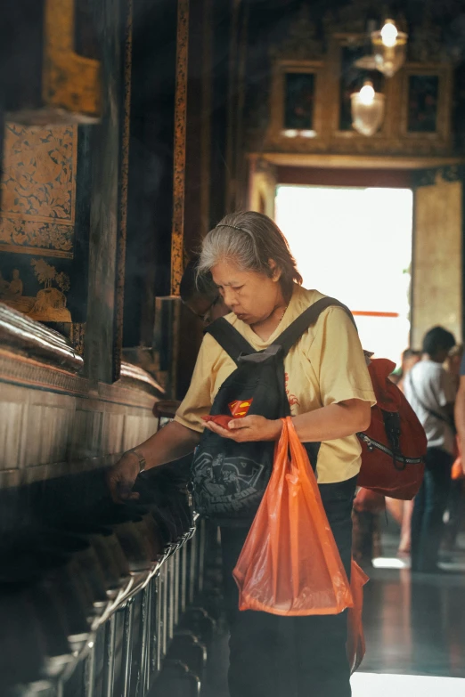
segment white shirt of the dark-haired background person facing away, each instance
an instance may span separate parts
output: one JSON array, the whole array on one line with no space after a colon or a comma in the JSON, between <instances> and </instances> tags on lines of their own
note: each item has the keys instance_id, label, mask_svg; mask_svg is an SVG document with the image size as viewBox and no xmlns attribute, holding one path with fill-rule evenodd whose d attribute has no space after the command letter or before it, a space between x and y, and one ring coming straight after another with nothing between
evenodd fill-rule
<instances>
[{"instance_id":1,"label":"white shirt of the dark-haired background person facing away","mask_svg":"<svg viewBox=\"0 0 465 697\"><path fill-rule=\"evenodd\" d=\"M405 397L419 417L428 439L428 448L441 448L453 455L455 436L445 421L434 417L428 409L446 419L445 405L455 401L455 386L440 363L420 361L404 380ZM428 409L425 409L428 408Z\"/></svg>"}]
</instances>

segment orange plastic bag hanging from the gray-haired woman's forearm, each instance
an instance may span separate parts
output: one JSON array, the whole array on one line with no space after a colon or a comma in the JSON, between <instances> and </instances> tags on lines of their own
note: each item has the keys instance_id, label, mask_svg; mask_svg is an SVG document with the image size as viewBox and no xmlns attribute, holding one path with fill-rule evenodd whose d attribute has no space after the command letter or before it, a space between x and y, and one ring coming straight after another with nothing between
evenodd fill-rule
<instances>
[{"instance_id":1,"label":"orange plastic bag hanging from the gray-haired woman's forearm","mask_svg":"<svg viewBox=\"0 0 465 697\"><path fill-rule=\"evenodd\" d=\"M354 605L347 574L306 450L290 417L282 421L273 473L233 571L239 608L338 614Z\"/></svg>"}]
</instances>

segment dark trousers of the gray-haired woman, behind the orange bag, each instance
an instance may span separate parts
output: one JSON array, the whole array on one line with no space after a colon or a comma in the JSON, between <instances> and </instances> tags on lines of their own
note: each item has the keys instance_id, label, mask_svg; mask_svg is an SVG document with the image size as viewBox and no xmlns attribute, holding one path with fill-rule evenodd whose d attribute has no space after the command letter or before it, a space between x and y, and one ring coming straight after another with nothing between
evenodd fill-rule
<instances>
[{"instance_id":1,"label":"dark trousers of the gray-haired woman, behind the orange bag","mask_svg":"<svg viewBox=\"0 0 465 697\"><path fill-rule=\"evenodd\" d=\"M350 578L356 477L322 484L330 527ZM350 697L347 611L339 615L279 617L241 612L232 570L247 530L222 528L226 612L230 625L231 697Z\"/></svg>"}]
</instances>

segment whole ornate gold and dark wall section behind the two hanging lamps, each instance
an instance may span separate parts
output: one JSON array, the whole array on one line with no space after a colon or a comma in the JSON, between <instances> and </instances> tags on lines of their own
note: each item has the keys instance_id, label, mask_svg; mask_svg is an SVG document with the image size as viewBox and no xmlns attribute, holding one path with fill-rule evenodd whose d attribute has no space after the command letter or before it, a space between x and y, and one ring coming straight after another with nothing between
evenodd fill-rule
<instances>
[{"instance_id":1,"label":"whole ornate gold and dark wall section behind the two hanging lamps","mask_svg":"<svg viewBox=\"0 0 465 697\"><path fill-rule=\"evenodd\" d=\"M261 84L249 84L249 153L453 158L454 61L441 29L426 20L410 28L407 62L387 79L375 69L367 34L368 18L388 16L382 4L353 0L322 23L307 5L276 33ZM402 16L396 20L404 27ZM367 79L385 96L383 123L370 137L354 129L351 109L351 94Z\"/></svg>"}]
</instances>

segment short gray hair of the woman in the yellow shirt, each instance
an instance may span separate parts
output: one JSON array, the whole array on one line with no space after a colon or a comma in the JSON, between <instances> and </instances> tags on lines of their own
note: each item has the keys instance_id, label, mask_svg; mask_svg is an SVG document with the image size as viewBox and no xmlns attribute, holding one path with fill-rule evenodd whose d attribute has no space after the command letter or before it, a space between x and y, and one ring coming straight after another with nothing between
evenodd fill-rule
<instances>
[{"instance_id":1,"label":"short gray hair of the woman in the yellow shirt","mask_svg":"<svg viewBox=\"0 0 465 697\"><path fill-rule=\"evenodd\" d=\"M296 260L290 254L287 239L271 218L255 211L225 215L208 232L202 243L199 275L211 272L220 262L236 263L241 271L255 271L273 276L270 261L281 271L285 295L292 294L292 284L302 283Z\"/></svg>"}]
</instances>

